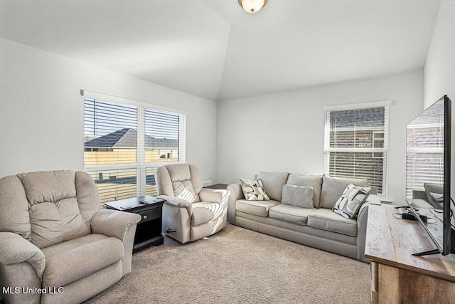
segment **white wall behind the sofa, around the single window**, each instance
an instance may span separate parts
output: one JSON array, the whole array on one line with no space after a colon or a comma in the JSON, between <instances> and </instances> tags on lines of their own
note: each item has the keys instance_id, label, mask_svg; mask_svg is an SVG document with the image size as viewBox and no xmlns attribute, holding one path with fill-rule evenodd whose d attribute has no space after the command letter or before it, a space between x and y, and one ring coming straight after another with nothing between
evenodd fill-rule
<instances>
[{"instance_id":1,"label":"white wall behind the sofa, around the single window","mask_svg":"<svg viewBox=\"0 0 455 304\"><path fill-rule=\"evenodd\" d=\"M324 106L378 100L392 100L388 198L405 204L406 124L422 111L422 70L219 102L218 182L259 170L322 174Z\"/></svg>"}]
</instances>

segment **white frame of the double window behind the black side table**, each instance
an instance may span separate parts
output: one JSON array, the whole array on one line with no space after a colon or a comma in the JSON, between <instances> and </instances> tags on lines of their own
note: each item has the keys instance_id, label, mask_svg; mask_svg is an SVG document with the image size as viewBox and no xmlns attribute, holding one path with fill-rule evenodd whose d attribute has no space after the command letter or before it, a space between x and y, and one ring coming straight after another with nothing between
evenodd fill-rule
<instances>
[{"instance_id":1,"label":"white frame of the double window behind the black side table","mask_svg":"<svg viewBox=\"0 0 455 304\"><path fill-rule=\"evenodd\" d=\"M176 110L172 108L166 108L159 105L153 105L151 103L143 103L136 100L130 100L127 98L120 98L114 95L107 95L102 93L96 93L89 90L80 90L82 95L82 103L85 104L85 98L94 100L104 101L106 103L117 103L120 105L129 105L137 107L137 159L135 163L131 164L99 164L99 165L85 165L84 171L105 171L105 170L121 170L121 169L137 169L137 181L136 181L136 196L146 195L146 172L147 169L153 169L159 166L167 164L177 164L186 162L186 111ZM85 106L84 106L85 107ZM146 162L145 161L145 111L157 110L161 112L169 112L174 115L178 115L178 161L172 162ZM85 108L82 111L85 115ZM85 117L83 119L85 125ZM85 131L84 131L85 137ZM83 137L82 137L83 138ZM85 152L85 142L82 140L82 158ZM133 196L132 196L133 197Z\"/></svg>"}]
</instances>

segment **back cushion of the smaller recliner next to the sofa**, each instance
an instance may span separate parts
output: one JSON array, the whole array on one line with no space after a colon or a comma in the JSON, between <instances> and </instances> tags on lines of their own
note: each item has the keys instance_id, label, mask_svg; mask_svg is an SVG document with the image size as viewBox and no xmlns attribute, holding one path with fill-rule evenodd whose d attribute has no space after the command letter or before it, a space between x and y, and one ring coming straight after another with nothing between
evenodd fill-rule
<instances>
[{"instance_id":1,"label":"back cushion of the smaller recliner next to the sofa","mask_svg":"<svg viewBox=\"0 0 455 304\"><path fill-rule=\"evenodd\" d=\"M156 168L156 188L159 195L185 199L191 203L200 201L202 179L193 164L168 164Z\"/></svg>"}]
</instances>

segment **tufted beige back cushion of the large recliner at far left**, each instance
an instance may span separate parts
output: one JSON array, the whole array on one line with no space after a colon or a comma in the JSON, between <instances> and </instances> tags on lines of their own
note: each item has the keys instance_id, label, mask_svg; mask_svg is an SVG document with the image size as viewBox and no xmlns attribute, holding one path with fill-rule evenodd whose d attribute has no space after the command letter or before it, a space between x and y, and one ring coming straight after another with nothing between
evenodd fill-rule
<instances>
[{"instance_id":1,"label":"tufted beige back cushion of the large recliner at far left","mask_svg":"<svg viewBox=\"0 0 455 304\"><path fill-rule=\"evenodd\" d=\"M2 219L9 218L6 223L11 227L5 228L1 221L2 231L21 234L38 248L90 234L100 196L89 174L69 170L22 173L1 179L0 189L8 184L11 189L0 194L0 214Z\"/></svg>"}]
</instances>

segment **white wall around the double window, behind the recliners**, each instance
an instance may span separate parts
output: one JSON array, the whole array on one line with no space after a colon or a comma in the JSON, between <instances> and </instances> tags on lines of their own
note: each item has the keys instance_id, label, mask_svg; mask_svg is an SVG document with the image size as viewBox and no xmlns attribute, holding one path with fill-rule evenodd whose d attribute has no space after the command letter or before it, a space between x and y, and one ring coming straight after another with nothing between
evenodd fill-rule
<instances>
[{"instance_id":1,"label":"white wall around the double window, behind the recliners","mask_svg":"<svg viewBox=\"0 0 455 304\"><path fill-rule=\"evenodd\" d=\"M215 102L4 39L0 54L0 177L83 169L85 89L187 111L186 160L215 180Z\"/></svg>"}]
</instances>

